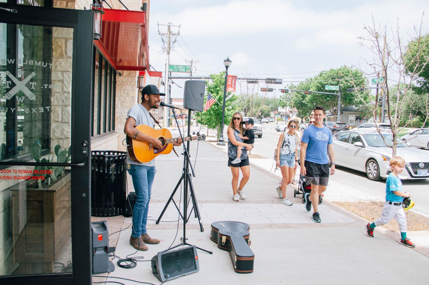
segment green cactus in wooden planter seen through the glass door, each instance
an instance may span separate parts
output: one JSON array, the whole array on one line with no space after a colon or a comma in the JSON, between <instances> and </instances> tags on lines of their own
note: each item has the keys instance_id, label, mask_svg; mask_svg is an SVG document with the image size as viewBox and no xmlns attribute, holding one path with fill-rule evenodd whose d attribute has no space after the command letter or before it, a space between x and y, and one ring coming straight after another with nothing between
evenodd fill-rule
<instances>
[{"instance_id":1,"label":"green cactus in wooden planter seen through the glass door","mask_svg":"<svg viewBox=\"0 0 429 285\"><path fill-rule=\"evenodd\" d=\"M56 161L57 163L67 163L70 160L71 146L69 146L69 149L66 150L64 148L61 148L60 145L55 145L54 151L55 151L55 155L57 156L57 161ZM31 155L33 156L33 159L36 162L40 162L40 163L54 162L54 156L52 157L48 156L48 159L41 158L40 157L41 152L42 152L42 147L40 146L39 141L31 145ZM48 170L46 171L47 173L43 174L45 175L45 179L43 180L37 179L37 187L42 188L42 183L51 185L51 182L56 182L58 178L63 176L64 169L65 169L64 166L35 166L34 170L39 170L39 173L42 173L43 170ZM39 174L35 173L34 175L36 176Z\"/></svg>"}]
</instances>

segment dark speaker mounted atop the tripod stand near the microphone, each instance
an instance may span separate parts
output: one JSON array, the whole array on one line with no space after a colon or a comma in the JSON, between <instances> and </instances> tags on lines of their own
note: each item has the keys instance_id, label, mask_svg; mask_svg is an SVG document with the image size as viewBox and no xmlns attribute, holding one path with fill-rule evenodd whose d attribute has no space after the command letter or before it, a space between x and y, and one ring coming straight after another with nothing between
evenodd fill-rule
<instances>
[{"instance_id":1,"label":"dark speaker mounted atop the tripod stand near the microphone","mask_svg":"<svg viewBox=\"0 0 429 285\"><path fill-rule=\"evenodd\" d=\"M183 92L183 107L202 112L204 93L205 80L186 80Z\"/></svg>"}]
</instances>

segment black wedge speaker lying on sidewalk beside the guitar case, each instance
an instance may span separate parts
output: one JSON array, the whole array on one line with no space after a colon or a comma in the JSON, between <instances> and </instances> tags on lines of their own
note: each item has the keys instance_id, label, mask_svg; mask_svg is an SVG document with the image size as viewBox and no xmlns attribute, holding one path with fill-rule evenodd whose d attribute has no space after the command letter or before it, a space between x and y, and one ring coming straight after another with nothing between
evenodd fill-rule
<instances>
[{"instance_id":1,"label":"black wedge speaker lying on sidewalk beside the guitar case","mask_svg":"<svg viewBox=\"0 0 429 285\"><path fill-rule=\"evenodd\" d=\"M152 273L161 281L174 279L199 270L196 246L158 252L152 260Z\"/></svg>"}]
</instances>

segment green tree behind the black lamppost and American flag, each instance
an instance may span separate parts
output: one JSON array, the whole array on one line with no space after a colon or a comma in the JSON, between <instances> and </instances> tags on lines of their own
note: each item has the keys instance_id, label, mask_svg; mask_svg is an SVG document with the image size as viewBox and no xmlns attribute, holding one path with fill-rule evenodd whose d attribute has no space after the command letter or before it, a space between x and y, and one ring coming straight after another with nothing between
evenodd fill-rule
<instances>
[{"instance_id":1,"label":"green tree behind the black lamppost and American flag","mask_svg":"<svg viewBox=\"0 0 429 285\"><path fill-rule=\"evenodd\" d=\"M208 128L215 129L217 131L217 137L220 137L220 126L222 124L222 106L224 102L224 84L225 84L225 71L222 71L219 74L210 74L211 83L207 83L206 91L207 94L210 92L211 96L215 98L218 102L211 105L210 109L205 112L200 112L199 122L203 125L207 125ZM205 95L205 100L207 100L207 95ZM237 110L236 105L237 96L231 92L227 92L226 102L225 102L225 119L224 124L229 125L231 116ZM226 128L226 127L224 127Z\"/></svg>"}]
</instances>

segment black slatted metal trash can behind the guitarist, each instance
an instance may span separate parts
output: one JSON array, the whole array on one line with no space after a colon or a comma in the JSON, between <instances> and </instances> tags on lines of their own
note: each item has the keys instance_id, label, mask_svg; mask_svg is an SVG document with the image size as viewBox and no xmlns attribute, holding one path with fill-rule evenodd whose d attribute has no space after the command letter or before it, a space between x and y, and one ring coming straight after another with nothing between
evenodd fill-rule
<instances>
[{"instance_id":1,"label":"black slatted metal trash can behind the guitarist","mask_svg":"<svg viewBox=\"0 0 429 285\"><path fill-rule=\"evenodd\" d=\"M125 151L91 151L91 216L123 214L127 200L126 181Z\"/></svg>"}]
</instances>

